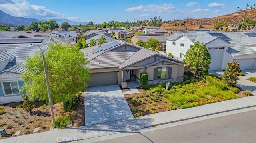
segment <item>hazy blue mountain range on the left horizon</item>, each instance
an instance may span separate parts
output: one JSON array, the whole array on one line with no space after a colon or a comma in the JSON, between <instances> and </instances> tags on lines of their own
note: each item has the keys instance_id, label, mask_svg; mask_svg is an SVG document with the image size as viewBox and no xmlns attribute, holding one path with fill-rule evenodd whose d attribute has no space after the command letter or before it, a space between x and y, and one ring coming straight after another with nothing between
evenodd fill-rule
<instances>
[{"instance_id":1,"label":"hazy blue mountain range on the left horizon","mask_svg":"<svg viewBox=\"0 0 256 143\"><path fill-rule=\"evenodd\" d=\"M58 24L62 24L62 22L68 22L70 25L86 25L87 22L75 22L72 20L68 19L50 19L50 20L55 20ZM17 25L30 25L32 22L39 22L39 21L49 21L45 19L36 19L36 18L24 18L24 17L16 17L16 16L11 16L10 14L7 14L0 10L0 24L5 24L5 25L12 25L12 26L17 26Z\"/></svg>"}]
</instances>

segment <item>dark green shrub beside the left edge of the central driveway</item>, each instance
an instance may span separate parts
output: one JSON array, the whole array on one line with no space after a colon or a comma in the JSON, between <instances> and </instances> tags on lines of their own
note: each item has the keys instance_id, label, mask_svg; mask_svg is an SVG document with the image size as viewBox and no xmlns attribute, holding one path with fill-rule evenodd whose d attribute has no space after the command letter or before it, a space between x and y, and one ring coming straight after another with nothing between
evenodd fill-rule
<instances>
[{"instance_id":1,"label":"dark green shrub beside the left edge of the central driveway","mask_svg":"<svg viewBox=\"0 0 256 143\"><path fill-rule=\"evenodd\" d=\"M78 108L80 104L81 93L78 96L74 96L71 100L63 102L63 108L65 111L74 111Z\"/></svg>"}]
</instances>

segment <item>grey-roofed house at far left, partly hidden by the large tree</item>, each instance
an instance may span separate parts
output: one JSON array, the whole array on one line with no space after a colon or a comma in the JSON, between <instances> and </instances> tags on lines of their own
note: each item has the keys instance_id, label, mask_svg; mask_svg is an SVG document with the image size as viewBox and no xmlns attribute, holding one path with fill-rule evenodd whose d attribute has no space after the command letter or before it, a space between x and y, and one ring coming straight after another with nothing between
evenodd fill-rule
<instances>
[{"instance_id":1,"label":"grey-roofed house at far left, partly hidden by the large tree","mask_svg":"<svg viewBox=\"0 0 256 143\"><path fill-rule=\"evenodd\" d=\"M27 57L32 57L38 47L28 47L30 44L39 45L42 50L48 49L49 43L53 43L51 37L42 38L12 38L0 39L0 103L22 101L20 91L24 82L20 81L20 74L26 69L22 63Z\"/></svg>"}]
</instances>

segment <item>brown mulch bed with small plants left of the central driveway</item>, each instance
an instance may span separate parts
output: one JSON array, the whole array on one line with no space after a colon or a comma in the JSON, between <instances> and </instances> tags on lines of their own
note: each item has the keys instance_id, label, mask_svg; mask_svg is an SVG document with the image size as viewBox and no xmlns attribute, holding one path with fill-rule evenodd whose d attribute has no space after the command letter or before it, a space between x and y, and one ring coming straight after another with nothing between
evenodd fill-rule
<instances>
[{"instance_id":1,"label":"brown mulch bed with small plants left of the central driveway","mask_svg":"<svg viewBox=\"0 0 256 143\"><path fill-rule=\"evenodd\" d=\"M33 133L36 127L40 127L38 132L50 130L52 116L49 106L46 106L44 102L34 102L35 108L29 113L23 108L16 108L18 104L20 102L1 104L4 113L0 115L0 128L4 128L7 135L0 139L14 137L16 131L21 131L20 135ZM62 103L53 105L55 119L66 114L75 114L72 127L84 126L84 92L81 94L80 104L75 111L65 112L62 107Z\"/></svg>"}]
</instances>

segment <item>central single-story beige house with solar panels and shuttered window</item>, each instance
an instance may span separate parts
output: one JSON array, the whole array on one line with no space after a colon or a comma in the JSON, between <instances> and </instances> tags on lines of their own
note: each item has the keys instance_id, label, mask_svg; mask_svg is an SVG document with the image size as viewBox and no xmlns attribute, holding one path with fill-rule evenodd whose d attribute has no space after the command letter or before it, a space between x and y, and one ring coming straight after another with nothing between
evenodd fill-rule
<instances>
[{"instance_id":1,"label":"central single-story beige house with solar panels and shuttered window","mask_svg":"<svg viewBox=\"0 0 256 143\"><path fill-rule=\"evenodd\" d=\"M140 84L148 73L148 85L183 81L184 62L124 41L81 49L91 69L89 87L121 85L126 80Z\"/></svg>"}]
</instances>

